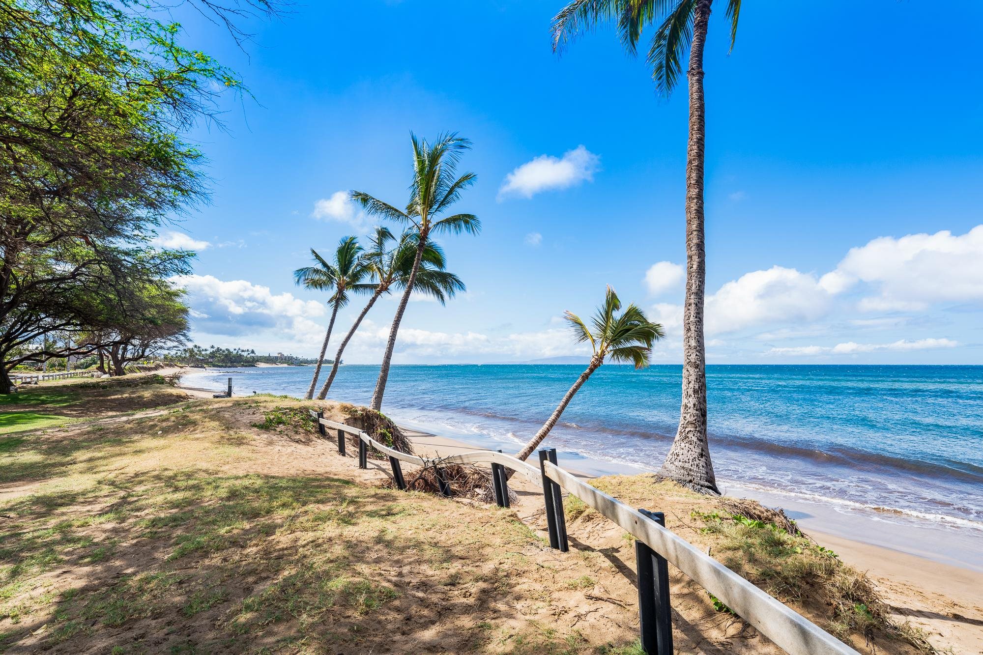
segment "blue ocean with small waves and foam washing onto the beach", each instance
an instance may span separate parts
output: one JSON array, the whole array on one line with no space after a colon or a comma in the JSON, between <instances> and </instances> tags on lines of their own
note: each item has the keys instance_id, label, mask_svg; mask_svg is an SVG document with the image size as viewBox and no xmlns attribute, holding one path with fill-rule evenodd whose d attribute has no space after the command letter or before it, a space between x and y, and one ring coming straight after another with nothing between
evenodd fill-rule
<instances>
[{"instance_id":1,"label":"blue ocean with small waves and foam washing onto the beach","mask_svg":"<svg viewBox=\"0 0 983 655\"><path fill-rule=\"evenodd\" d=\"M394 366L382 410L417 429L514 451L582 370ZM217 390L232 377L237 394L302 396L313 372L208 369L184 380ZM330 397L367 403L377 372L343 366ZM675 434L680 378L680 366L605 365L545 445L587 473L656 470ZM711 365L707 378L724 493L786 507L823 532L873 532L871 543L983 570L983 367Z\"/></svg>"}]
</instances>

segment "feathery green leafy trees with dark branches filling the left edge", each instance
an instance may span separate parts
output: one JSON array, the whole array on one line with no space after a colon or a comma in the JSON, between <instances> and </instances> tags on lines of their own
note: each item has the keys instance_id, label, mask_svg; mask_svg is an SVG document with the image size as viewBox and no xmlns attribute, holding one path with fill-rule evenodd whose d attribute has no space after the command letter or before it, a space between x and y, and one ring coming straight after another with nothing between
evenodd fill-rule
<instances>
[{"instance_id":1,"label":"feathery green leafy trees with dark branches filling the left edge","mask_svg":"<svg viewBox=\"0 0 983 655\"><path fill-rule=\"evenodd\" d=\"M186 0L244 36L223 7ZM202 152L180 136L213 120L231 72L156 20L157 0L0 0L0 393L11 370L95 355L101 370L187 339L169 279L194 253L158 227L206 198Z\"/></svg>"}]
</instances>

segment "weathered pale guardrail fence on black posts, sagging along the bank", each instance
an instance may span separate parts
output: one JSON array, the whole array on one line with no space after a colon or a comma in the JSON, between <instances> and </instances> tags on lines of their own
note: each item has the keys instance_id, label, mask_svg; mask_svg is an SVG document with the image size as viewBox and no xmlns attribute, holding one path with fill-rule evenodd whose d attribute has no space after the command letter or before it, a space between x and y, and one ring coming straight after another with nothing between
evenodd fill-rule
<instances>
[{"instance_id":1,"label":"weathered pale guardrail fence on black posts, sagging along the bank","mask_svg":"<svg viewBox=\"0 0 983 655\"><path fill-rule=\"evenodd\" d=\"M741 619L754 625L786 653L859 655L856 650L819 625L815 625L693 544L666 529L661 513L627 506L560 468L556 464L555 448L539 451L539 469L521 459L492 450L475 450L447 457L421 457L380 444L358 428L329 421L323 417L323 412L312 410L311 416L317 421L318 431L322 436L327 436L325 428L337 431L338 451L341 454L345 454L345 434L358 437L360 468L367 467L366 455L367 448L370 446L388 455L393 479L400 489L406 489L399 466L401 461L417 466L434 467L437 479L441 483L441 491L446 496L450 495L449 486L440 475L439 466L449 463L488 462L492 464L495 500L499 506L508 506L503 468L510 468L522 474L534 484L542 483L547 506L549 545L560 551L568 550L562 491L596 509L638 540L635 544L638 565L638 605L642 648L647 653L671 655L673 652L666 567L666 564L672 564L717 597Z\"/></svg>"}]
</instances>

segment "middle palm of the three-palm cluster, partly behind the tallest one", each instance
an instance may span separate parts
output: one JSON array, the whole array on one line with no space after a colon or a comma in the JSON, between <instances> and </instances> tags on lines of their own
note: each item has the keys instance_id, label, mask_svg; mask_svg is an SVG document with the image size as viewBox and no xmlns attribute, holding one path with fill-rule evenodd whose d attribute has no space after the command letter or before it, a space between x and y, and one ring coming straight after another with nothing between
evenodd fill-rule
<instances>
[{"instance_id":1,"label":"middle palm of the three-palm cluster, partly behind the tallest one","mask_svg":"<svg viewBox=\"0 0 983 655\"><path fill-rule=\"evenodd\" d=\"M320 387L318 400L327 397L327 390L334 382L334 376L338 373L338 365L341 363L341 354L345 351L345 346L351 340L355 331L362 324L362 320L369 314L369 310L376 304L376 300L383 293L389 293L393 288L405 289L410 280L410 273L413 269L413 262L417 254L417 237L415 233L403 233L397 243L389 247L389 243L395 240L392 232L387 227L376 227L376 235L372 238L372 250L363 256L372 268L373 283L376 290L373 292L369 302L362 309L362 313L355 319L355 323L349 328L338 352L334 356L334 363L331 365L331 373L327 376L324 386ZM464 282L457 275L443 270L446 262L443 251L433 242L424 249L424 256L417 270L417 277L413 284L415 293L433 296L441 305L447 298L453 298L458 291L464 291Z\"/></svg>"}]
</instances>

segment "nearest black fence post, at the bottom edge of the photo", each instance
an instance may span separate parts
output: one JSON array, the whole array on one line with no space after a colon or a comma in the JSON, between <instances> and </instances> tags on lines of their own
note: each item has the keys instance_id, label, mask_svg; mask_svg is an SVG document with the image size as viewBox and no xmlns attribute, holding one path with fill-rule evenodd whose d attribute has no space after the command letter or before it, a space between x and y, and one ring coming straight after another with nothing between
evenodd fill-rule
<instances>
[{"instance_id":1,"label":"nearest black fence post, at the bottom edge of the photo","mask_svg":"<svg viewBox=\"0 0 983 655\"><path fill-rule=\"evenodd\" d=\"M661 511L639 511L662 526ZM672 617L669 606L669 569L665 558L641 541L635 542L638 566L638 614L642 650L650 655L672 655Z\"/></svg>"}]
</instances>

